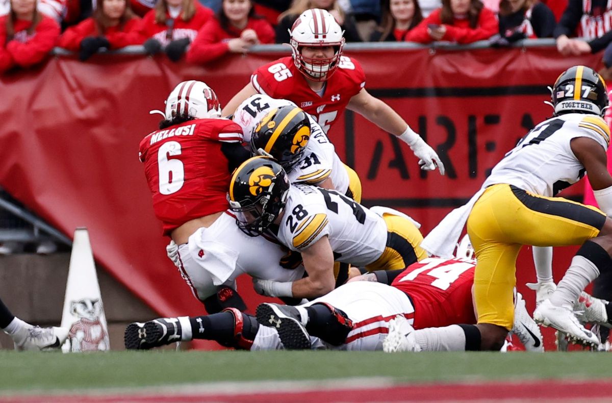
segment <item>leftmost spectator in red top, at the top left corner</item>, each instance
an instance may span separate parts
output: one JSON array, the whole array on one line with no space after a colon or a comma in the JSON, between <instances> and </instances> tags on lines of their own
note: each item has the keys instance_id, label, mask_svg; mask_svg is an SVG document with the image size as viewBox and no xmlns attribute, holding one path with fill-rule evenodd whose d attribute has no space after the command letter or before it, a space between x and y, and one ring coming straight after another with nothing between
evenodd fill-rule
<instances>
[{"instance_id":1,"label":"leftmost spectator in red top, at the top left corner","mask_svg":"<svg viewBox=\"0 0 612 403\"><path fill-rule=\"evenodd\" d=\"M36 9L36 0L11 0L0 17L0 72L42 62L59 36L59 25Z\"/></svg>"}]
</instances>

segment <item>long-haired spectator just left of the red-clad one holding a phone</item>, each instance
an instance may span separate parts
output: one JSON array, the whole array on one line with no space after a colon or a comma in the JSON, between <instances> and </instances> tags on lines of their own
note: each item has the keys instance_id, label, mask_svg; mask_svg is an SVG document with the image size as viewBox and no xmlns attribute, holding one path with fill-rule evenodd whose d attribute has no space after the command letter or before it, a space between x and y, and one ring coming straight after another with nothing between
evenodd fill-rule
<instances>
[{"instance_id":1,"label":"long-haired spectator just left of the red-clad one holding a phone","mask_svg":"<svg viewBox=\"0 0 612 403\"><path fill-rule=\"evenodd\" d=\"M383 0L382 22L372 32L370 42L403 42L412 28L423 20L418 0Z\"/></svg>"}]
</instances>

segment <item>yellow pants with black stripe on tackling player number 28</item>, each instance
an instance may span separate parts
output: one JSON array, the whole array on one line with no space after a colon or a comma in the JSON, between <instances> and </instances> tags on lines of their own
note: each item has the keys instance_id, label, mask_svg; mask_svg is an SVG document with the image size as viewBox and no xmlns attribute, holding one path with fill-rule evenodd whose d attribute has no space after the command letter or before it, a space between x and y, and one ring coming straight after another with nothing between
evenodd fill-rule
<instances>
[{"instance_id":1,"label":"yellow pants with black stripe on tackling player number 28","mask_svg":"<svg viewBox=\"0 0 612 403\"><path fill-rule=\"evenodd\" d=\"M387 246L383 254L366 266L368 271L403 269L427 257L422 247L423 235L406 217L384 213L387 224Z\"/></svg>"}]
</instances>

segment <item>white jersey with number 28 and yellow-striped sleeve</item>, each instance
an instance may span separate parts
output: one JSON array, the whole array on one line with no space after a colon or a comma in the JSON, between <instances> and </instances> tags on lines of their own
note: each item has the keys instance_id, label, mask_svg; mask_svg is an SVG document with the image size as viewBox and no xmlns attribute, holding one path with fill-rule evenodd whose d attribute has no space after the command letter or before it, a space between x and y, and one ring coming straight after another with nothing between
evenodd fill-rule
<instances>
[{"instance_id":1,"label":"white jersey with number 28 and yellow-striped sleeve","mask_svg":"<svg viewBox=\"0 0 612 403\"><path fill-rule=\"evenodd\" d=\"M326 235L337 262L359 267L378 259L387 245L387 225L378 214L335 190L292 185L278 240L300 251Z\"/></svg>"}]
</instances>

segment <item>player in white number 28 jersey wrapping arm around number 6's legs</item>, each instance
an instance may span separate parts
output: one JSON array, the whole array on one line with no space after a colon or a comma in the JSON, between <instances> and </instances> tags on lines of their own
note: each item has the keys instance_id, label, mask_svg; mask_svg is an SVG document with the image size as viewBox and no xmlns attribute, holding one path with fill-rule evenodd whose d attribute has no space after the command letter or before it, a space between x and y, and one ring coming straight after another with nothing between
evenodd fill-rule
<instances>
[{"instance_id":1,"label":"player in white number 28 jersey wrapping arm around number 6's legs","mask_svg":"<svg viewBox=\"0 0 612 403\"><path fill-rule=\"evenodd\" d=\"M316 298L335 287L334 261L373 271L405 268L427 257L418 228L392 209L374 213L335 190L290 185L271 157L252 157L236 168L228 192L237 225L249 235L270 230L302 254L308 277L258 281L267 296Z\"/></svg>"}]
</instances>

